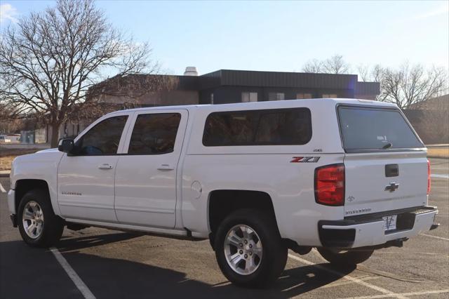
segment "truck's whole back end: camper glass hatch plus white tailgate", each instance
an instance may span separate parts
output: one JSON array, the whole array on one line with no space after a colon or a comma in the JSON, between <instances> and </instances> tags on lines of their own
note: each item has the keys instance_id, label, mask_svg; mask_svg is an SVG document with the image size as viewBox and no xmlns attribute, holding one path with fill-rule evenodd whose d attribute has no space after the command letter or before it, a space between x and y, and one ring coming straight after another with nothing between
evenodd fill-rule
<instances>
[{"instance_id":1,"label":"truck's whole back end: camper glass hatch plus white tailgate","mask_svg":"<svg viewBox=\"0 0 449 299\"><path fill-rule=\"evenodd\" d=\"M344 150L344 215L427 204L427 151L395 107L337 109Z\"/></svg>"}]
</instances>

